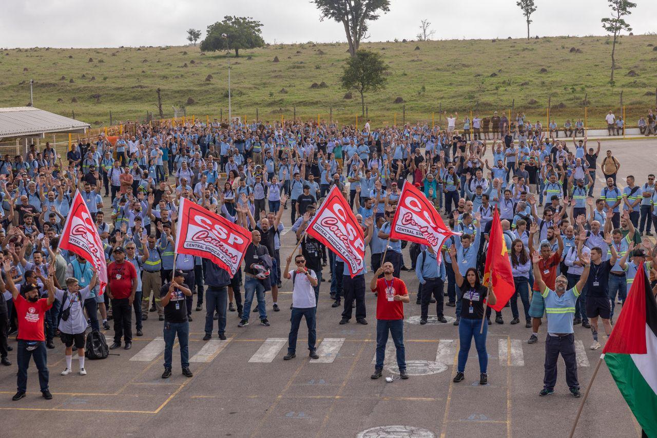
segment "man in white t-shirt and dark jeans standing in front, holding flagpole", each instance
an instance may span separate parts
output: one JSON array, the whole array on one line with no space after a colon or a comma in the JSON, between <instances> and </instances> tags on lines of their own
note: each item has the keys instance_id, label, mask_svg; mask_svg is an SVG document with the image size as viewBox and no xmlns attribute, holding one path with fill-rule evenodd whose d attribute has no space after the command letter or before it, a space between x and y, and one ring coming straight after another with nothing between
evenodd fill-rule
<instances>
[{"instance_id":1,"label":"man in white t-shirt and dark jeans standing in front, holding flagpole","mask_svg":"<svg viewBox=\"0 0 657 438\"><path fill-rule=\"evenodd\" d=\"M284 360L290 360L296 357L296 337L299 333L299 324L302 316L306 317L306 326L308 326L308 349L309 356L313 359L319 358L315 353L315 343L317 333L315 332L315 313L317 312L317 303L315 301L315 289L317 286L317 275L311 269L306 268L306 258L302 254L294 257L296 268L290 270L292 255L288 256L283 276L286 279L292 278L292 316L290 321L290 335L288 336L288 354L283 357Z\"/></svg>"}]
</instances>

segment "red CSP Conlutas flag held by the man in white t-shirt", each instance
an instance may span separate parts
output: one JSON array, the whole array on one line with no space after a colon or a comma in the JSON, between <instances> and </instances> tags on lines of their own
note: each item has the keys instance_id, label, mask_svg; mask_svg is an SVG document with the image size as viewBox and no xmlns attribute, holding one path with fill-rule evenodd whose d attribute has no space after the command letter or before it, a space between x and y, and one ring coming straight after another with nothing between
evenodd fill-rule
<instances>
[{"instance_id":1,"label":"red CSP Conlutas flag held by the man in white t-shirt","mask_svg":"<svg viewBox=\"0 0 657 438\"><path fill-rule=\"evenodd\" d=\"M319 210L308 224L306 233L342 257L351 277L365 266L365 235L338 186L328 192Z\"/></svg>"}]
</instances>

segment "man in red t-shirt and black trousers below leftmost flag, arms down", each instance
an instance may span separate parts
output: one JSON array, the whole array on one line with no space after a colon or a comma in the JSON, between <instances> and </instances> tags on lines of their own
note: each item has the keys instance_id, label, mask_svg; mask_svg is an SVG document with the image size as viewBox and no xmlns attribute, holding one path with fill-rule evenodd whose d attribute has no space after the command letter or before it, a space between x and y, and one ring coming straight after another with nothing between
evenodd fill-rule
<instances>
[{"instance_id":1,"label":"man in red t-shirt and black trousers below leftmost flag, arms down","mask_svg":"<svg viewBox=\"0 0 657 438\"><path fill-rule=\"evenodd\" d=\"M137 270L131 262L125 261L125 250L114 248L114 262L107 266L107 285L105 292L112 300L114 316L114 343L110 350L121 347L121 338L125 339L124 349L132 347L132 302L137 291Z\"/></svg>"}]
</instances>

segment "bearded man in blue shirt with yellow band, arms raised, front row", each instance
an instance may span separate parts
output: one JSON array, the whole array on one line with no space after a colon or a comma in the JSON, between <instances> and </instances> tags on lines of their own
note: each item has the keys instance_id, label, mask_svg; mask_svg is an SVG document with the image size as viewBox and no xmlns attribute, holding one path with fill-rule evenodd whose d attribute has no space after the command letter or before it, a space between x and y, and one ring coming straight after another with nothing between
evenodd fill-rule
<instances>
[{"instance_id":1,"label":"bearded man in blue shirt with yellow band, arms raised, front row","mask_svg":"<svg viewBox=\"0 0 657 438\"><path fill-rule=\"evenodd\" d=\"M595 251L591 251L593 254ZM575 302L579 293L589 278L591 269L591 255L579 253L579 260L583 263L584 270L575 287L566 291L568 280L564 276L558 276L555 280L555 290L549 289L541 276L539 262L541 255L532 254L534 278L538 284L541 297L545 301L545 312L547 314L547 339L545 340L545 376L543 377L543 389L539 393L541 397L555 393L556 383L556 360L561 354L566 364L566 383L573 397L580 397L579 382L577 379L577 360L575 354L575 336L573 335L573 315L575 313Z\"/></svg>"}]
</instances>

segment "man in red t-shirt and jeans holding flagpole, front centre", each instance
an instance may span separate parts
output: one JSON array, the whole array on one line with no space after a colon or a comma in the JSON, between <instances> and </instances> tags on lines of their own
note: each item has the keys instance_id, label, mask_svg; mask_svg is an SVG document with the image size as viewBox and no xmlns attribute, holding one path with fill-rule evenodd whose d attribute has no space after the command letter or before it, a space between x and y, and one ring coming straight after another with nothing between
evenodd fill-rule
<instances>
[{"instance_id":1,"label":"man in red t-shirt and jeans holding flagpole, front centre","mask_svg":"<svg viewBox=\"0 0 657 438\"><path fill-rule=\"evenodd\" d=\"M373 379L381 377L383 372L388 331L390 331L397 349L399 376L402 379L409 378L406 372L403 343L404 306L402 303L408 303L410 300L405 283L392 276L394 270L391 262L385 262L376 270L370 281L370 289L376 292L376 366L374 374L371 376ZM383 273L383 278L378 278L381 273Z\"/></svg>"}]
</instances>

